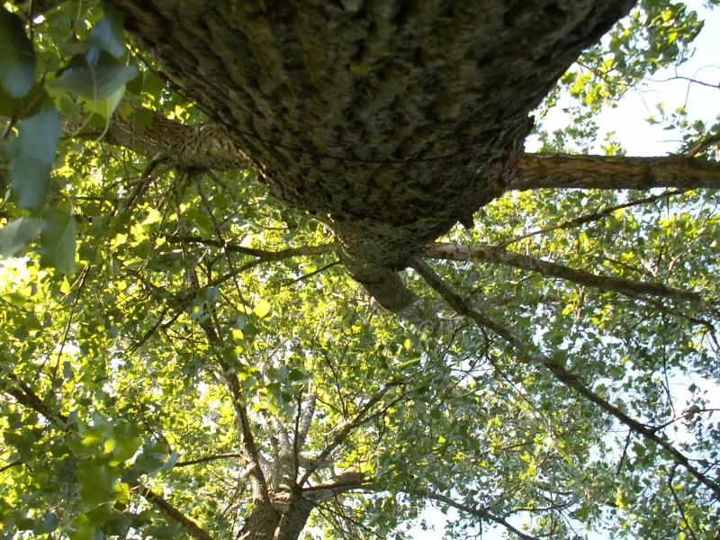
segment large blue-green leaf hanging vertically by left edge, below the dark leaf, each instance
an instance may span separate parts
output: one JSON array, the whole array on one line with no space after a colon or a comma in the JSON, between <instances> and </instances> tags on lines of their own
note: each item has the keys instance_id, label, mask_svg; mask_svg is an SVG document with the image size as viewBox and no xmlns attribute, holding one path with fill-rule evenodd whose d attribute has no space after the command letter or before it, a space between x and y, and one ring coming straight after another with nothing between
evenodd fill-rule
<instances>
[{"instance_id":1,"label":"large blue-green leaf hanging vertically by left edge, below the dark leaf","mask_svg":"<svg viewBox=\"0 0 720 540\"><path fill-rule=\"evenodd\" d=\"M10 166L11 189L20 208L39 210L45 203L61 129L60 115L49 104L20 122Z\"/></svg>"}]
</instances>

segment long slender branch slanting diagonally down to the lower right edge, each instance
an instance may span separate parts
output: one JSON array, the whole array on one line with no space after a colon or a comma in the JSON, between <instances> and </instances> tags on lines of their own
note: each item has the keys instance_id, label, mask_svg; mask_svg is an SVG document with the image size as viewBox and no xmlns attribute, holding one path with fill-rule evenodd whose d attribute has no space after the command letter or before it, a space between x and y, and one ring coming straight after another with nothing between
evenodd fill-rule
<instances>
[{"instance_id":1,"label":"long slender branch slanting diagonally down to the lower right edge","mask_svg":"<svg viewBox=\"0 0 720 540\"><path fill-rule=\"evenodd\" d=\"M556 360L549 358L540 352L536 352L536 347L533 347L532 344L527 342L524 338L508 329L499 320L495 320L487 313L473 308L473 305L470 304L470 302L455 293L455 291L446 284L445 280L437 275L424 260L419 257L414 259L412 267L420 276L422 276L426 283L428 283L428 285L430 285L430 287L432 287L443 298L443 300L445 300L450 307L453 308L453 310L460 315L464 315L468 319L475 321L478 326L491 329L493 332L498 334L500 338L505 339L509 345L515 347L520 354L526 356L531 361L536 362L538 365L545 366L545 369L553 374L556 380L563 383L565 386L572 388L572 390L578 392L585 399L598 405L601 410L608 412L611 416L625 424L628 428L635 431L635 433L638 433L647 440L653 441L653 443L661 446L665 452L671 455L672 459L676 463L684 466L686 470L698 480L698 482L706 485L707 488L716 494L716 497L720 498L720 484L708 478L707 475L701 473L698 468L690 463L686 455L682 454L677 448L672 446L667 439L659 436L656 429L648 428L642 422L628 416L623 410L620 410L618 407L593 392L590 387L582 381L581 377L569 372Z\"/></svg>"}]
</instances>

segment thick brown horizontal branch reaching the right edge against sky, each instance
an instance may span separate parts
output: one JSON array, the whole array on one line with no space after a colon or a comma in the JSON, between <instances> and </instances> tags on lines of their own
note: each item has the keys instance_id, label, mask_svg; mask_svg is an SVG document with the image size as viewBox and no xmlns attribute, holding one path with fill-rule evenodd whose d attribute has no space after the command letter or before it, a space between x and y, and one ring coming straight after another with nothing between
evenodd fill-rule
<instances>
[{"instance_id":1,"label":"thick brown horizontal branch reaching the right edge against sky","mask_svg":"<svg viewBox=\"0 0 720 540\"><path fill-rule=\"evenodd\" d=\"M689 157L525 154L509 189L720 188L720 163Z\"/></svg>"}]
</instances>

